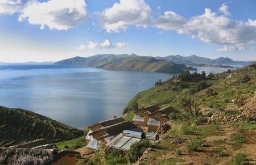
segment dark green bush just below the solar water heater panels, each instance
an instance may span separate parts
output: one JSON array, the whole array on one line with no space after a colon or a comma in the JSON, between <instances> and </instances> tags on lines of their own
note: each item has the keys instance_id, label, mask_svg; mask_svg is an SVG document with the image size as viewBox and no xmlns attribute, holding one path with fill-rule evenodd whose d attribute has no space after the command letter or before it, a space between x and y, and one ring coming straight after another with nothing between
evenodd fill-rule
<instances>
[{"instance_id":1,"label":"dark green bush just below the solar water heater panels","mask_svg":"<svg viewBox=\"0 0 256 165\"><path fill-rule=\"evenodd\" d=\"M151 145L152 143L148 140L142 140L133 143L133 145L131 145L131 148L127 153L127 158L129 162L135 163L142 156L144 151Z\"/></svg>"}]
</instances>

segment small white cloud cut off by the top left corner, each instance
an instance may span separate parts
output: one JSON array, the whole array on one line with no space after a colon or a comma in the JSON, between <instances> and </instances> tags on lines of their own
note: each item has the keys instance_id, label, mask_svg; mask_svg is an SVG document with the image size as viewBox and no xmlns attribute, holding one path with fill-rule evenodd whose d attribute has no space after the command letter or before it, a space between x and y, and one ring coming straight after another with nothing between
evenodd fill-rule
<instances>
[{"instance_id":1,"label":"small white cloud cut off by the top left corner","mask_svg":"<svg viewBox=\"0 0 256 165\"><path fill-rule=\"evenodd\" d=\"M0 0L0 14L14 14L22 10L22 0Z\"/></svg>"}]
</instances>

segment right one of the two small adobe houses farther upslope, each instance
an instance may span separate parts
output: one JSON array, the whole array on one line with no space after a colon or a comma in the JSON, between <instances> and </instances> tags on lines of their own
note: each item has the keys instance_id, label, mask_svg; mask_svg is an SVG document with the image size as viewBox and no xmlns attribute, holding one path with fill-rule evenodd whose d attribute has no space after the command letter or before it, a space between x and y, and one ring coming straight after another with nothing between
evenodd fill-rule
<instances>
[{"instance_id":1,"label":"right one of the two small adobe houses farther upslope","mask_svg":"<svg viewBox=\"0 0 256 165\"><path fill-rule=\"evenodd\" d=\"M152 112L148 114L148 132L155 132L158 130L159 126L164 124L164 122L170 120L168 115L170 113L177 113L178 111L174 109L173 107L164 107L162 109L159 109L158 111Z\"/></svg>"}]
</instances>

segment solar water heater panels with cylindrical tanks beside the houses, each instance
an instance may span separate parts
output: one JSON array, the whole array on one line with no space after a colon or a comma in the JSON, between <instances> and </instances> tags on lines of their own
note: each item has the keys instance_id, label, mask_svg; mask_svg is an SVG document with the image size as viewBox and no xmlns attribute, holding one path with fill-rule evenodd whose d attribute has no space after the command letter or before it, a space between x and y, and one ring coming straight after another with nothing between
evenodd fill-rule
<instances>
[{"instance_id":1,"label":"solar water heater panels with cylindrical tanks beside the houses","mask_svg":"<svg viewBox=\"0 0 256 165\"><path fill-rule=\"evenodd\" d=\"M144 134L142 132L135 132L131 130L123 130L122 133L118 134L112 141L106 144L108 149L115 149L126 152L130 149L131 145L135 142L139 142L142 139L150 139L156 141L159 139L158 134Z\"/></svg>"}]
</instances>

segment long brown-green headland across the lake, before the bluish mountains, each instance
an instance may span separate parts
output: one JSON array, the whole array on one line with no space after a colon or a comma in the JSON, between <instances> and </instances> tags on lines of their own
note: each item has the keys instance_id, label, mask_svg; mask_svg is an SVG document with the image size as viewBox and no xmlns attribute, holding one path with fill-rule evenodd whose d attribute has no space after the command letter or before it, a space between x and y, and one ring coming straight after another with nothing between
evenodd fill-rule
<instances>
[{"instance_id":1,"label":"long brown-green headland across the lake, before the bluish mountains","mask_svg":"<svg viewBox=\"0 0 256 165\"><path fill-rule=\"evenodd\" d=\"M106 70L129 70L178 74L183 70L196 70L184 64L136 54L98 54L91 57L73 57L56 62L61 65L85 65Z\"/></svg>"}]
</instances>

